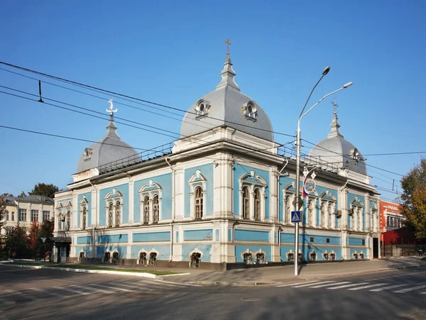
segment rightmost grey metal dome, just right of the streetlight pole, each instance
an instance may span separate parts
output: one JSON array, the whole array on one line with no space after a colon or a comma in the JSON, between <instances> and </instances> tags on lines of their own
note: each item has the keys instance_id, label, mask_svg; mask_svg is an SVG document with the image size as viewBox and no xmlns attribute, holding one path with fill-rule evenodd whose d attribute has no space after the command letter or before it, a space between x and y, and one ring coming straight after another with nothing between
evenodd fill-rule
<instances>
[{"instance_id":1,"label":"rightmost grey metal dome, just right of the streetlight pole","mask_svg":"<svg viewBox=\"0 0 426 320\"><path fill-rule=\"evenodd\" d=\"M347 167L351 170L367 175L366 162L359 150L348 140L343 138L340 133L337 113L334 112L333 121L330 125L332 131L327 138L321 140L315 145L308 156L321 160L322 162L332 163L337 167ZM358 161L354 161L356 158Z\"/></svg>"}]
</instances>

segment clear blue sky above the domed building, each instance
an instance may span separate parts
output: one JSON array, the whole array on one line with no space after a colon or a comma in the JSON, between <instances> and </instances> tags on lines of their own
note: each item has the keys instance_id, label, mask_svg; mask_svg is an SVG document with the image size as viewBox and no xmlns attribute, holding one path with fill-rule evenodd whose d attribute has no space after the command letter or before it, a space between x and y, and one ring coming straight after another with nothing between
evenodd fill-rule
<instances>
[{"instance_id":1,"label":"clear blue sky above the domed building","mask_svg":"<svg viewBox=\"0 0 426 320\"><path fill-rule=\"evenodd\" d=\"M344 137L366 155L368 165L405 175L421 155L369 154L426 150L425 13L421 0L2 1L0 60L187 110L220 82L229 38L241 92L263 107L274 131L290 135L310 90L330 65L310 104L354 82L336 95ZM33 79L4 70L0 85L38 94ZM109 96L97 95L104 99L43 84L43 96L104 112ZM327 136L331 101L324 100L303 119L302 138L318 143ZM102 138L107 126L98 118L6 94L0 94L0 106L2 126L88 140ZM175 120L114 106L121 118L180 132L180 111L133 104ZM135 148L174 140L117 126ZM0 193L15 195L37 182L65 188L90 144L5 128L0 135ZM275 134L275 140L288 143L291 138ZM395 180L398 185L400 175L374 167L368 167L372 184L392 189ZM396 196L378 191L386 199Z\"/></svg>"}]
</instances>

